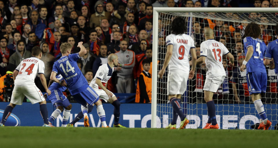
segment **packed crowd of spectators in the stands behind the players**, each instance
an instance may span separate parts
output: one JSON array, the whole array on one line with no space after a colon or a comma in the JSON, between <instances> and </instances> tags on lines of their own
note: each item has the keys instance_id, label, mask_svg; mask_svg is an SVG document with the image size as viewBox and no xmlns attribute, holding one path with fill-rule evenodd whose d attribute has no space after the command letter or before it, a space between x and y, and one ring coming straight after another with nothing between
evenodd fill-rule
<instances>
[{"instance_id":1,"label":"packed crowd of spectators in the stands behind the players","mask_svg":"<svg viewBox=\"0 0 278 148\"><path fill-rule=\"evenodd\" d=\"M278 0L250 2L253 3L253 7L278 7ZM5 75L7 70L14 69L23 59L31 57L32 47L40 46L43 52L41 60L45 63L45 78L49 81L53 62L61 57L61 43L72 44L72 53L76 53L80 50L77 43L82 41L87 54L81 57L78 65L88 83L96 74L98 67L107 63L107 56L116 53L119 63L115 68L116 72L108 81L107 88L114 93L135 93L138 78L143 70L143 60L147 59L150 62L149 73L152 72L153 7L238 6L238 0L0 0L0 75ZM239 17L233 13L227 15ZM257 13L249 15L268 21L265 16ZM169 34L167 30L171 19L159 20L160 63L163 63L166 53L164 39ZM244 60L242 39L247 23L231 24L226 21L198 18L194 18L192 22L191 36L196 42L197 55L200 55L200 43L204 41L202 32L204 28L210 27L215 30L215 39L226 43L226 47L238 61L233 68L227 67L227 61L223 61L227 79L223 83L222 91L215 95L215 99L222 97L233 100L235 96L237 101L247 101L249 97L245 91L246 76L244 77L238 70L238 66ZM261 28L263 28L261 39L266 44L276 38L273 26L262 25ZM148 62L145 60L145 63ZM197 98L203 96L201 89L205 72L203 63L197 68L195 80L191 82L196 87L190 88L190 91L197 92L195 94L199 96L191 96L193 102L198 102ZM268 73L269 76L272 74L270 71ZM145 74L149 76L148 72ZM242 77L238 77L239 74ZM271 76L275 77L273 74ZM36 85L44 91L39 79L37 80ZM235 91L241 89L241 84L244 91ZM159 93L165 94L164 85L162 83L159 86L164 88ZM273 93L270 93L270 97L273 97Z\"/></svg>"}]
</instances>

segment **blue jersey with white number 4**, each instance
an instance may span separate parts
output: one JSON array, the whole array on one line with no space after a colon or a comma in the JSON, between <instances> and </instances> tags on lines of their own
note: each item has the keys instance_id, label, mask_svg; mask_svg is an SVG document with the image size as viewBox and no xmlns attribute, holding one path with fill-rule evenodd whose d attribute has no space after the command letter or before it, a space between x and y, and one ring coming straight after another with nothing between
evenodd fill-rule
<instances>
[{"instance_id":1,"label":"blue jersey with white number 4","mask_svg":"<svg viewBox=\"0 0 278 148\"><path fill-rule=\"evenodd\" d=\"M249 72L261 72L266 73L264 67L264 53L266 51L266 44L260 39L254 39L250 36L243 39L244 52L247 54L247 48L253 47L253 55L246 64L246 73Z\"/></svg>"}]
</instances>

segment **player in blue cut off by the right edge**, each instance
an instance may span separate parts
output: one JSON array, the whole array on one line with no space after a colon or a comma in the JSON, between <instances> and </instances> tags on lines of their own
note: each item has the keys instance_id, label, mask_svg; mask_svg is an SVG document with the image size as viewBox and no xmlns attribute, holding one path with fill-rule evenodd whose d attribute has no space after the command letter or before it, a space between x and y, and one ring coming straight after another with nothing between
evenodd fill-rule
<instances>
[{"instance_id":1,"label":"player in blue cut off by the right edge","mask_svg":"<svg viewBox=\"0 0 278 148\"><path fill-rule=\"evenodd\" d=\"M278 24L275 26L275 34L278 34ZM275 63L275 74L278 74L278 39L268 43L264 58L266 59L266 65L271 65L273 62Z\"/></svg>"}]
</instances>

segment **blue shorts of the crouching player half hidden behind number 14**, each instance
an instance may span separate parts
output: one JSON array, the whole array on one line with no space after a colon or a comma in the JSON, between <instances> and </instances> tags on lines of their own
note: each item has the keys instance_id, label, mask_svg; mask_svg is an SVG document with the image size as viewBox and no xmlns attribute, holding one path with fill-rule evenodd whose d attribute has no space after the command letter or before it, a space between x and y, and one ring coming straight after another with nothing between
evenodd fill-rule
<instances>
[{"instance_id":1,"label":"blue shorts of the crouching player half hidden behind number 14","mask_svg":"<svg viewBox=\"0 0 278 148\"><path fill-rule=\"evenodd\" d=\"M52 105L56 108L57 106L63 106L67 107L70 105L69 100L67 97L63 94L63 92L59 90L50 90L51 94L48 97L48 99L52 102Z\"/></svg>"}]
</instances>

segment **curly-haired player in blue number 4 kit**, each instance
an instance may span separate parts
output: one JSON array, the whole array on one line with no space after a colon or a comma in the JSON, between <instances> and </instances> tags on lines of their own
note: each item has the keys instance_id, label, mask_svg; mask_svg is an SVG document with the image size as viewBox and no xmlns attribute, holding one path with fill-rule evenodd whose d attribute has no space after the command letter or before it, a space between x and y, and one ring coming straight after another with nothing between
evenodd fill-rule
<instances>
[{"instance_id":1,"label":"curly-haired player in blue number 4 kit","mask_svg":"<svg viewBox=\"0 0 278 148\"><path fill-rule=\"evenodd\" d=\"M271 122L266 117L264 105L261 102L261 92L266 92L267 75L264 66L264 53L266 44L258 39L261 34L261 28L257 23L250 23L245 28L244 52L245 60L240 67L240 71L246 68L247 85L249 94L254 102L255 108L260 115L259 129L268 130Z\"/></svg>"}]
</instances>

